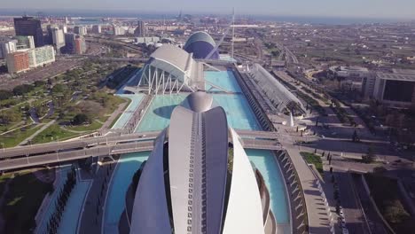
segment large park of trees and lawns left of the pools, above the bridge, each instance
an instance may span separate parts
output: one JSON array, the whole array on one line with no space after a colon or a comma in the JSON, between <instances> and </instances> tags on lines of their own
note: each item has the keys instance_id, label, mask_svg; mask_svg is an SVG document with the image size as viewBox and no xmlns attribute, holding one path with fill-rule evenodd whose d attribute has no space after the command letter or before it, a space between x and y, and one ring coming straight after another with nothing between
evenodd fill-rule
<instances>
[{"instance_id":1,"label":"large park of trees and lawns left of the pools, above the bridge","mask_svg":"<svg viewBox=\"0 0 415 234\"><path fill-rule=\"evenodd\" d=\"M33 143L88 134L102 127L124 99L114 96L114 88L129 79L137 66L86 61L64 74L13 90L0 90L0 142L4 147L20 144L35 128L56 121ZM31 114L40 123L33 124ZM76 117L75 117L76 116ZM30 126L20 129L24 126ZM37 130L37 129L36 129Z\"/></svg>"}]
</instances>

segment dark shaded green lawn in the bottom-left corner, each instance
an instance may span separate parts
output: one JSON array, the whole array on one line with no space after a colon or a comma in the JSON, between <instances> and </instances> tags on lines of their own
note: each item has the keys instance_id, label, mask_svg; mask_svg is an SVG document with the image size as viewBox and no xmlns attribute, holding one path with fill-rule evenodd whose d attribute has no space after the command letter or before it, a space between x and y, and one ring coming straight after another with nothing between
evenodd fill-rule
<instances>
[{"instance_id":1,"label":"dark shaded green lawn in the bottom-left corner","mask_svg":"<svg viewBox=\"0 0 415 234\"><path fill-rule=\"evenodd\" d=\"M51 183L43 183L31 172L20 172L9 185L4 199L4 233L32 233L35 214L44 196L53 190Z\"/></svg>"}]
</instances>

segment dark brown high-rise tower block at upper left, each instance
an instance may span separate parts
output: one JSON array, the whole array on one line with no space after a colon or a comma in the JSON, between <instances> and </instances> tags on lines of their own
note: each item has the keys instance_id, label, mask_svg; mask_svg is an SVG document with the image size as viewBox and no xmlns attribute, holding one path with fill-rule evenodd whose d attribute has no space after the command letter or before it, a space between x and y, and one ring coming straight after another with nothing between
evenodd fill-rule
<instances>
[{"instance_id":1,"label":"dark brown high-rise tower block at upper left","mask_svg":"<svg viewBox=\"0 0 415 234\"><path fill-rule=\"evenodd\" d=\"M14 30L16 35L32 35L35 46L43 46L43 30L40 20L27 16L14 18Z\"/></svg>"}]
</instances>

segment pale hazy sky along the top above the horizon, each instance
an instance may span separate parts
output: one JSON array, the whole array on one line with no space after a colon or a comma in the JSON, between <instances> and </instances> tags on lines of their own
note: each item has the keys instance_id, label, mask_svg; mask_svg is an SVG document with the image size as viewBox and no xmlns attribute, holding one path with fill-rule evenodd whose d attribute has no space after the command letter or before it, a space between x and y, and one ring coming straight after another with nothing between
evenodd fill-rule
<instances>
[{"instance_id":1,"label":"pale hazy sky along the top above the horizon","mask_svg":"<svg viewBox=\"0 0 415 234\"><path fill-rule=\"evenodd\" d=\"M283 16L415 19L415 0L0 0L1 9L231 12ZM49 12L48 12L49 13Z\"/></svg>"}]
</instances>

